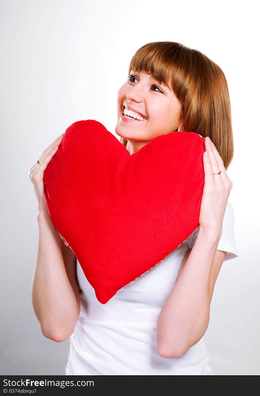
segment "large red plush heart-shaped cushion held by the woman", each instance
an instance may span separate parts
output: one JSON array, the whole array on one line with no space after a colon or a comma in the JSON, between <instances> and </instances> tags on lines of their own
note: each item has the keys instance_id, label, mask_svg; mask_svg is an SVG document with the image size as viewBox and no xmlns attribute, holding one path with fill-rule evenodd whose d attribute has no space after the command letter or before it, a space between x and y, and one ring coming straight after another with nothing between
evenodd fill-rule
<instances>
[{"instance_id":1,"label":"large red plush heart-shaped cushion held by the woman","mask_svg":"<svg viewBox=\"0 0 260 396\"><path fill-rule=\"evenodd\" d=\"M198 227L204 138L173 132L130 155L96 120L74 122L44 172L54 227L100 303L160 263Z\"/></svg>"}]
</instances>

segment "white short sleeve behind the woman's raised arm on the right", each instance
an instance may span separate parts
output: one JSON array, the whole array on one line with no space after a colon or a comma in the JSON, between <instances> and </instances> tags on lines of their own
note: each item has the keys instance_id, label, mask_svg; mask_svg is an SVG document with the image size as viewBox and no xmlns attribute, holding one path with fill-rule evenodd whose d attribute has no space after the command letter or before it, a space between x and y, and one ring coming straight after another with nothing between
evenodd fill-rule
<instances>
[{"instance_id":1,"label":"white short sleeve behind the woman's raised arm on the right","mask_svg":"<svg viewBox=\"0 0 260 396\"><path fill-rule=\"evenodd\" d=\"M194 246L199 230L200 226L198 226L193 233L192 242L189 249ZM234 209L229 201L227 202L226 210L224 213L222 234L219 240L219 244L217 246L217 250L223 250L227 252L224 261L234 259L238 256L234 234Z\"/></svg>"}]
</instances>

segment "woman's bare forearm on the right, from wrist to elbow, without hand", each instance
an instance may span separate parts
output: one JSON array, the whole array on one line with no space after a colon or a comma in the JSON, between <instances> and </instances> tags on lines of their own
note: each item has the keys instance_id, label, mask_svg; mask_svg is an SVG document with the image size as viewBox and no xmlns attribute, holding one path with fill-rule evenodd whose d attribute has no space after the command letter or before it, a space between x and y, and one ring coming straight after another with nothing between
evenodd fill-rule
<instances>
[{"instance_id":1,"label":"woman's bare forearm on the right, from wrist to elbow, without hand","mask_svg":"<svg viewBox=\"0 0 260 396\"><path fill-rule=\"evenodd\" d=\"M157 322L160 348L169 357L181 356L196 344L209 324L210 276L219 232L200 230L188 259L179 272Z\"/></svg>"}]
</instances>

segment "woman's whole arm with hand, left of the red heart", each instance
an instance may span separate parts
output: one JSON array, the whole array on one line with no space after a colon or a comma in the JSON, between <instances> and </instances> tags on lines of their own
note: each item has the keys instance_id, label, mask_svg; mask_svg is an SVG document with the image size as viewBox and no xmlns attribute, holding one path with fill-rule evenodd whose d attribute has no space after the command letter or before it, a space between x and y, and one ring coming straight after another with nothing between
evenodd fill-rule
<instances>
[{"instance_id":1,"label":"woman's whole arm with hand, left of the red heart","mask_svg":"<svg viewBox=\"0 0 260 396\"><path fill-rule=\"evenodd\" d=\"M57 152L64 133L51 143L28 171L38 201L39 240L32 280L32 306L43 335L63 341L74 331L79 318L80 296L76 257L62 242L49 217L44 197L43 175Z\"/></svg>"}]
</instances>

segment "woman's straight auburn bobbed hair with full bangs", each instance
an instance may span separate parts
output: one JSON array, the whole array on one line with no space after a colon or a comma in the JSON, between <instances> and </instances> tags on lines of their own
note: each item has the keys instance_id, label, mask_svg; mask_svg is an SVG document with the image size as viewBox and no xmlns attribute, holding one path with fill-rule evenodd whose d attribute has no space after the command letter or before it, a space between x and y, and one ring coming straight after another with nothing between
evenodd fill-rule
<instances>
[{"instance_id":1,"label":"woman's straight auburn bobbed hair with full bangs","mask_svg":"<svg viewBox=\"0 0 260 396\"><path fill-rule=\"evenodd\" d=\"M234 155L230 98L220 67L197 49L172 41L145 44L136 51L131 70L154 74L182 104L184 131L209 136L225 169ZM127 139L120 138L126 147Z\"/></svg>"}]
</instances>

